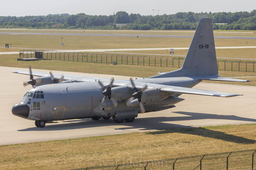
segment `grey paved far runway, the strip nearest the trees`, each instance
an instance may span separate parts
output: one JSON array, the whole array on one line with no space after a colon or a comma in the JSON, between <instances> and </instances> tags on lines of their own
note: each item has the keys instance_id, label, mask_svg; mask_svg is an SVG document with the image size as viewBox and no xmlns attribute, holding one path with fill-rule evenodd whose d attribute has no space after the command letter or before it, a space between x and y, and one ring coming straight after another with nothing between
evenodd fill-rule
<instances>
[{"instance_id":1,"label":"grey paved far runway, the strip nearest the trees","mask_svg":"<svg viewBox=\"0 0 256 170\"><path fill-rule=\"evenodd\" d=\"M37 33L37 32L0 32L0 34L10 35L72 35L72 36L106 36L106 37L169 37L169 38L193 38L191 35L134 35L134 34L76 34L76 33ZM227 37L215 36L215 39L241 39L241 40L256 40L256 37Z\"/></svg>"}]
</instances>

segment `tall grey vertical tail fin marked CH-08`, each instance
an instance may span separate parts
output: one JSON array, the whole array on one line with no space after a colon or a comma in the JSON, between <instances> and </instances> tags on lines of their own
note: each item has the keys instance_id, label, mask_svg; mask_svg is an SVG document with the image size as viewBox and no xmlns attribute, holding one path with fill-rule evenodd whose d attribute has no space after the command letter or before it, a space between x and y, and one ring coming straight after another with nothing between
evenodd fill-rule
<instances>
[{"instance_id":1,"label":"tall grey vertical tail fin marked CH-08","mask_svg":"<svg viewBox=\"0 0 256 170\"><path fill-rule=\"evenodd\" d=\"M182 68L157 77L189 77L218 74L212 20L201 18Z\"/></svg>"}]
</instances>

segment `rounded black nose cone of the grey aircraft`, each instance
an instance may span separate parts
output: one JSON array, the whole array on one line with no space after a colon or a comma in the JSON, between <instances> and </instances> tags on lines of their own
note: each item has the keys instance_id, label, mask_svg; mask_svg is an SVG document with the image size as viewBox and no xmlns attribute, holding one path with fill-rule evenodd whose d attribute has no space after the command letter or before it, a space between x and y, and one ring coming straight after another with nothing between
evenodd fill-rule
<instances>
[{"instance_id":1,"label":"rounded black nose cone of the grey aircraft","mask_svg":"<svg viewBox=\"0 0 256 170\"><path fill-rule=\"evenodd\" d=\"M24 102L17 103L12 107L12 114L27 119L29 117L29 106Z\"/></svg>"}]
</instances>

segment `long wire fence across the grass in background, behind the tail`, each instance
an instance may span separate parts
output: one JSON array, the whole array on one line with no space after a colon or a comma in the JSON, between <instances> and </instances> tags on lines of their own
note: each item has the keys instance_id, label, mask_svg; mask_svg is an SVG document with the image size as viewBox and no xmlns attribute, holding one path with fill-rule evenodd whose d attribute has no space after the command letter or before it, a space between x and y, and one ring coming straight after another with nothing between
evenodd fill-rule
<instances>
[{"instance_id":1,"label":"long wire fence across the grass in background, behind the tail","mask_svg":"<svg viewBox=\"0 0 256 170\"><path fill-rule=\"evenodd\" d=\"M35 58L35 51L20 51L19 58ZM73 61L73 62L94 62L117 65L141 65L153 67L180 68L183 65L184 57L148 56L129 54L102 54L102 53L75 53L44 51L42 59ZM217 60L219 71L242 71L255 72L256 64L253 61L241 60Z\"/></svg>"}]
</instances>

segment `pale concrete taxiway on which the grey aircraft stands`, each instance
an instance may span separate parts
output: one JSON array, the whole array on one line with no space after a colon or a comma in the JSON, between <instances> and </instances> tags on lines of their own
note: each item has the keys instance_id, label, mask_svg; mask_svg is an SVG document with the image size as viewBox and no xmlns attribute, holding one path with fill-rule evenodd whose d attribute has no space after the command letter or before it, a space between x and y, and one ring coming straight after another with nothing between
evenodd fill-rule
<instances>
[{"instance_id":1,"label":"pale concrete taxiway on which the grey aircraft stands","mask_svg":"<svg viewBox=\"0 0 256 170\"><path fill-rule=\"evenodd\" d=\"M0 145L40 142L57 139L72 139L88 136L113 135L131 132L145 132L171 128L204 127L216 125L253 124L256 122L256 87L202 82L195 88L244 94L232 98L197 96L183 94L183 102L169 110L140 114L132 123L115 124L113 120L93 121L75 119L35 127L34 121L22 119L11 113L12 106L20 102L30 87L23 88L28 75L14 74L15 70L26 68L0 67ZM48 70L36 70L49 73ZM111 78L112 75L85 74L65 71L53 73ZM114 76L115 79L130 77Z\"/></svg>"}]
</instances>

